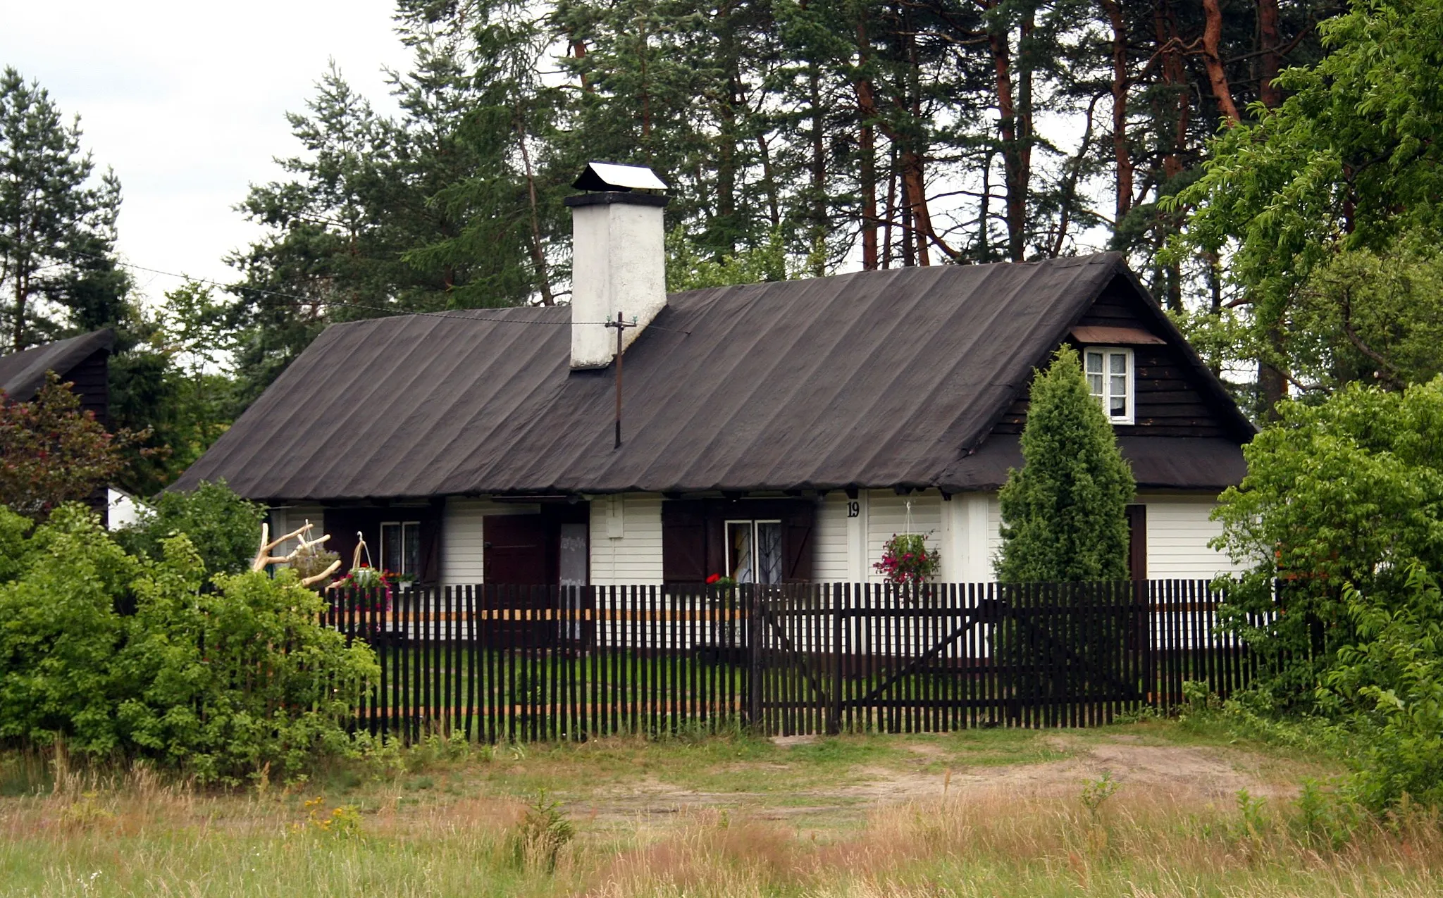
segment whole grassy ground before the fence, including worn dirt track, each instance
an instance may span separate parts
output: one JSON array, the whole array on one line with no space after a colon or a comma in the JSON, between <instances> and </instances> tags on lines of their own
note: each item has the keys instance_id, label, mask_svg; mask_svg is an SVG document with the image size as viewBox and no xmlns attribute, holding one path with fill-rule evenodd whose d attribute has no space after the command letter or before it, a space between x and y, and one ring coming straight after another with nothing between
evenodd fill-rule
<instances>
[{"instance_id":1,"label":"whole grassy ground before the fence, including worn dirt track","mask_svg":"<svg viewBox=\"0 0 1443 898\"><path fill-rule=\"evenodd\" d=\"M212 793L0 764L3 895L1436 895L1443 826L1306 816L1339 768L1146 722L433 742ZM1304 826L1306 824L1306 826ZM570 835L567 835L570 830Z\"/></svg>"}]
</instances>

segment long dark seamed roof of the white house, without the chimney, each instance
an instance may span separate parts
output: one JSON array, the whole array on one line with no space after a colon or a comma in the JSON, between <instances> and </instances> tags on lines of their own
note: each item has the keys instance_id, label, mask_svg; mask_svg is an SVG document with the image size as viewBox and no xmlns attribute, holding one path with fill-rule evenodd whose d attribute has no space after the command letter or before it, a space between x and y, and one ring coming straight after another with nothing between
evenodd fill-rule
<instances>
[{"instance_id":1,"label":"long dark seamed roof of the white house, without the chimney","mask_svg":"<svg viewBox=\"0 0 1443 898\"><path fill-rule=\"evenodd\" d=\"M294 502L996 487L1016 451L999 437L970 453L1118 278L1141 291L1100 254L674 294L626 350L620 450L615 372L570 370L567 308L335 324L173 489L225 479ZM1127 453L1139 480L1235 483L1251 427L1147 304L1240 438L1141 438L1143 455Z\"/></svg>"}]
</instances>

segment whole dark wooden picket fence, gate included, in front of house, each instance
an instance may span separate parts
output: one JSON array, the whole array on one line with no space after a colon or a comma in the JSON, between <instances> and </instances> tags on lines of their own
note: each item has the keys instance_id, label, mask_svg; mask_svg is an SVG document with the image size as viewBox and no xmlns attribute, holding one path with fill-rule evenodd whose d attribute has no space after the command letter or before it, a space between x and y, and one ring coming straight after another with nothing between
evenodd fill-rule
<instances>
[{"instance_id":1,"label":"whole dark wooden picket fence, gate included, in front of house","mask_svg":"<svg viewBox=\"0 0 1443 898\"><path fill-rule=\"evenodd\" d=\"M447 587L338 597L380 679L355 725L414 741L749 726L1084 726L1219 695L1254 659L1206 581Z\"/></svg>"}]
</instances>

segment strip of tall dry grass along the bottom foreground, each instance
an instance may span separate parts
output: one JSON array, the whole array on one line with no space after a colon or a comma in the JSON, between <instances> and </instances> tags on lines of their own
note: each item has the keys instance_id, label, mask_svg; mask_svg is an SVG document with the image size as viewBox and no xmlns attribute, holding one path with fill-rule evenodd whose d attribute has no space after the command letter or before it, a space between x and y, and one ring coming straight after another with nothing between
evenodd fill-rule
<instances>
[{"instance_id":1,"label":"strip of tall dry grass along the bottom foreground","mask_svg":"<svg viewBox=\"0 0 1443 898\"><path fill-rule=\"evenodd\" d=\"M59 757L43 788L0 801L0 894L1443 894L1443 823L1417 809L1304 826L1290 800L1240 804L1126 783L1115 794L1081 783L1072 794L970 790L887 806L850 829L719 810L632 826L580 817L553 869L528 852L518 861L524 801L417 799L400 781L362 793L346 812L355 827L330 830L313 820L346 799L315 803L316 787L221 794L143 765L97 773Z\"/></svg>"}]
</instances>

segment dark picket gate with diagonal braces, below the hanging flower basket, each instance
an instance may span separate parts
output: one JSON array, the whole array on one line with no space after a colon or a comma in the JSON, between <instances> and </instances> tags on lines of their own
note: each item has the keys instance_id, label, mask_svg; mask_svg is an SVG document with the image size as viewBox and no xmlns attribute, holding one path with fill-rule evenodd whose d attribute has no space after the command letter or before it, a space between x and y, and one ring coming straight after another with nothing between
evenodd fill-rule
<instances>
[{"instance_id":1,"label":"dark picket gate with diagonal braces, below the hanging flower basket","mask_svg":"<svg viewBox=\"0 0 1443 898\"><path fill-rule=\"evenodd\" d=\"M1146 584L753 587L746 604L763 732L1088 725L1147 695Z\"/></svg>"}]
</instances>

